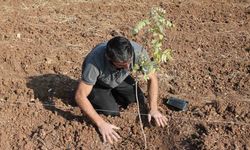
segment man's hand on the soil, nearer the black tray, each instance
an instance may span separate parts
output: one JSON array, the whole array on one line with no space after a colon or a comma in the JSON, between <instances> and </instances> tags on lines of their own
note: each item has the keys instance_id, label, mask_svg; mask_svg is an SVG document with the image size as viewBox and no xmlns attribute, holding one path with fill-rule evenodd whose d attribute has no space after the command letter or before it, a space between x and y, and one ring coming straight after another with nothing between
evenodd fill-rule
<instances>
[{"instance_id":1,"label":"man's hand on the soil, nearer the black tray","mask_svg":"<svg viewBox=\"0 0 250 150\"><path fill-rule=\"evenodd\" d=\"M162 115L158 110L151 110L148 114L148 122L151 121L151 118L154 118L158 126L165 127L167 125L168 119Z\"/></svg>"}]
</instances>

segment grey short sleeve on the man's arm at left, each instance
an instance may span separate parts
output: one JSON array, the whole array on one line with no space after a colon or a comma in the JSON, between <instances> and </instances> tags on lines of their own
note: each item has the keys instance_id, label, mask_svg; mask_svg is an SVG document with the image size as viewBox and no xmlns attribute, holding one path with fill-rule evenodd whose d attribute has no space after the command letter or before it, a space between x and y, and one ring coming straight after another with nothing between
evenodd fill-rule
<instances>
[{"instance_id":1,"label":"grey short sleeve on the man's arm at left","mask_svg":"<svg viewBox=\"0 0 250 150\"><path fill-rule=\"evenodd\" d=\"M99 70L96 68L96 66L91 63L88 63L83 65L81 79L86 84L94 85L97 81L99 74Z\"/></svg>"}]
</instances>

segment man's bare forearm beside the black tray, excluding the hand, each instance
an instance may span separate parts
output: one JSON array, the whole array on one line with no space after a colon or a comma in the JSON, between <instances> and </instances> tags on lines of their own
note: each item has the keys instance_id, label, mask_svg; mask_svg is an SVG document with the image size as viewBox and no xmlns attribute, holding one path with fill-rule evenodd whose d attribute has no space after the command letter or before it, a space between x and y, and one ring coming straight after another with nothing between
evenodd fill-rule
<instances>
[{"instance_id":1,"label":"man's bare forearm beside the black tray, excluding the hand","mask_svg":"<svg viewBox=\"0 0 250 150\"><path fill-rule=\"evenodd\" d=\"M148 81L149 106L151 110L157 110L158 104L158 79L156 74L150 76Z\"/></svg>"}]
</instances>

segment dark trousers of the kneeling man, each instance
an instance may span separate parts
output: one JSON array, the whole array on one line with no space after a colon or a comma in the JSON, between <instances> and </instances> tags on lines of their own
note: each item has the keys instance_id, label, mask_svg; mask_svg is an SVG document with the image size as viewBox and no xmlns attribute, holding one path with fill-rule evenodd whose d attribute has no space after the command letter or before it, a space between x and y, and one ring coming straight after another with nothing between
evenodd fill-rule
<instances>
[{"instance_id":1,"label":"dark trousers of the kneeling man","mask_svg":"<svg viewBox=\"0 0 250 150\"><path fill-rule=\"evenodd\" d=\"M143 92L139 87L137 92L139 102L145 103ZM120 106L126 108L130 103L136 102L135 96L135 80L128 76L115 88L107 88L96 83L88 98L98 113L117 116Z\"/></svg>"}]
</instances>

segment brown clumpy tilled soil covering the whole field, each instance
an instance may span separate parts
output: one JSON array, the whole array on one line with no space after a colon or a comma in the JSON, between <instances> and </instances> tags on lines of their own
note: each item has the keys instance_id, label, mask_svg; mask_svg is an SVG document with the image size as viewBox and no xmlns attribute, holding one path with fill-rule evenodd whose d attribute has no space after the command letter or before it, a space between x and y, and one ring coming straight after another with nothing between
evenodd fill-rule
<instances>
[{"instance_id":1,"label":"brown clumpy tilled soil covering the whole field","mask_svg":"<svg viewBox=\"0 0 250 150\"><path fill-rule=\"evenodd\" d=\"M159 73L169 122L144 119L148 148L250 149L249 0L0 0L0 149L144 149L136 105L104 117L123 137L109 145L73 95L89 50L130 38L152 6L175 28L165 45L174 60ZM170 96L188 100L188 110L166 107Z\"/></svg>"}]
</instances>

